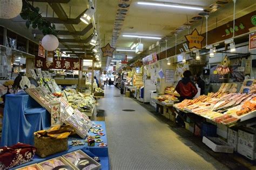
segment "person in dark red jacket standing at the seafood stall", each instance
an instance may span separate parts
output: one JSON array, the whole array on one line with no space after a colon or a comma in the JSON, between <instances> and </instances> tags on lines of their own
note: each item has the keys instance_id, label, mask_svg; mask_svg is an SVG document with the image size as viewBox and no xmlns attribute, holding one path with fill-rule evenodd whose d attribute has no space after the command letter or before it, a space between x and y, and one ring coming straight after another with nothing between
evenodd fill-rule
<instances>
[{"instance_id":1,"label":"person in dark red jacket standing at the seafood stall","mask_svg":"<svg viewBox=\"0 0 256 170\"><path fill-rule=\"evenodd\" d=\"M196 96L198 92L196 85L191 81L192 73L190 72L190 70L186 70L183 73L183 76L184 77L178 82L175 88L175 90L180 95L180 102L184 101L185 99L192 99L194 96ZM185 113L180 111L180 114L176 119L176 123L181 126L185 126L185 123L181 117L185 119Z\"/></svg>"}]
</instances>

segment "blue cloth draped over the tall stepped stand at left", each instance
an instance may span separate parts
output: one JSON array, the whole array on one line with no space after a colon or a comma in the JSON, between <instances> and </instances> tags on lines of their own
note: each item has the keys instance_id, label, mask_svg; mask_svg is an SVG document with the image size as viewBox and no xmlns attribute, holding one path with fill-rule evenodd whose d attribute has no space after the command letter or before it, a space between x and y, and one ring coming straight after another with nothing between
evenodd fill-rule
<instances>
[{"instance_id":1,"label":"blue cloth draped over the tall stepped stand at left","mask_svg":"<svg viewBox=\"0 0 256 170\"><path fill-rule=\"evenodd\" d=\"M6 95L1 146L33 145L33 132L49 127L49 112L29 95Z\"/></svg>"}]
</instances>

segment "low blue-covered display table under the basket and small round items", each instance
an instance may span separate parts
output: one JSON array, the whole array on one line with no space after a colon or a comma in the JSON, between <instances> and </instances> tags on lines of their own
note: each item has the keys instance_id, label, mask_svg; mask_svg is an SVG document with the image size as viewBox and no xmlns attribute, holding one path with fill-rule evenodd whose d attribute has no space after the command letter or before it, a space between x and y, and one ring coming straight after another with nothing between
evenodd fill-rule
<instances>
[{"instance_id":1,"label":"low blue-covered display table under the basket and small round items","mask_svg":"<svg viewBox=\"0 0 256 170\"><path fill-rule=\"evenodd\" d=\"M92 122L95 123L95 124L102 125L102 127L100 127L100 128L103 129L103 133L106 134L105 122L103 122L103 121L92 121ZM95 134L90 132L89 135L94 136ZM102 139L104 143L107 143L106 135L100 137L100 139ZM94 157L94 156L99 157L100 158L99 163L102 164L102 169L106 169L106 170L109 169L109 152L108 152L108 147L107 146L106 147L99 147L99 146L97 146L98 143L95 143L95 146L87 146L87 143L85 143L85 145L81 145L81 146L70 146L72 140L84 141L84 139L81 139L81 138L69 138L69 150L68 151L63 151L63 152L60 152L60 153L57 153L57 154L49 155L46 158L40 158L40 157L38 157L38 155L35 155L35 157L33 158L32 161L30 161L26 164L22 164L20 166L17 166L17 167L15 167L15 169L16 168L21 168L21 167L24 167L24 166L28 166L28 165L32 165L32 164L37 164L39 162L43 162L43 161L48 160L48 159L56 158L56 157L59 157L63 154L73 152L73 151L76 151L76 150L82 150L86 154L88 154L90 157Z\"/></svg>"}]
</instances>

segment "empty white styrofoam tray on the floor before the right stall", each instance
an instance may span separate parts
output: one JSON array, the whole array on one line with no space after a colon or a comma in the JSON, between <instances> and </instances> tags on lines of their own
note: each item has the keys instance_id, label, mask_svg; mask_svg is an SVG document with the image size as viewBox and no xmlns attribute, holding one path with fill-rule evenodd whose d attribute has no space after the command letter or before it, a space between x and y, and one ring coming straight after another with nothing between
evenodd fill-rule
<instances>
[{"instance_id":1,"label":"empty white styrofoam tray on the floor before the right stall","mask_svg":"<svg viewBox=\"0 0 256 170\"><path fill-rule=\"evenodd\" d=\"M214 152L222 152L222 153L233 153L234 147L228 146L228 144L216 137L203 137L203 143L210 147Z\"/></svg>"}]
</instances>

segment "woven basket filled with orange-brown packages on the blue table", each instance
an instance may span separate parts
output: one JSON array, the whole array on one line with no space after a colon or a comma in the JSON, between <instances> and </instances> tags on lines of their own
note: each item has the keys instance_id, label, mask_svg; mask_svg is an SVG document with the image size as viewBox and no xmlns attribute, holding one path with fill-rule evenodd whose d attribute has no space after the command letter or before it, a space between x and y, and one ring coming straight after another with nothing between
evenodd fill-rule
<instances>
[{"instance_id":1,"label":"woven basket filled with orange-brown packages on the blue table","mask_svg":"<svg viewBox=\"0 0 256 170\"><path fill-rule=\"evenodd\" d=\"M35 132L36 154L45 158L48 155L68 150L68 136L74 133L70 125L57 125L48 130Z\"/></svg>"}]
</instances>

